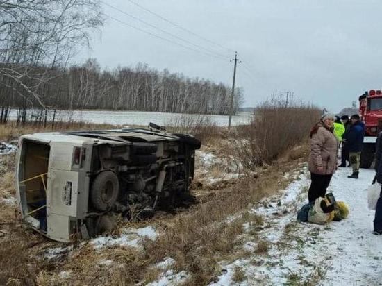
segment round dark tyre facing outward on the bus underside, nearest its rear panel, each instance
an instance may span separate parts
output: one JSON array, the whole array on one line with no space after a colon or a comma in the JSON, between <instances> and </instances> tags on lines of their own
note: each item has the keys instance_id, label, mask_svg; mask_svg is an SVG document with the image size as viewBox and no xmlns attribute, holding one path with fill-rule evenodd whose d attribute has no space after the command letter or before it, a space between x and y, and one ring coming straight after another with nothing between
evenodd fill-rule
<instances>
[{"instance_id":1,"label":"round dark tyre facing outward on the bus underside, nearest its rear panel","mask_svg":"<svg viewBox=\"0 0 382 286\"><path fill-rule=\"evenodd\" d=\"M112 171L103 171L97 175L90 190L94 208L100 211L110 210L119 193L118 177Z\"/></svg>"}]
</instances>

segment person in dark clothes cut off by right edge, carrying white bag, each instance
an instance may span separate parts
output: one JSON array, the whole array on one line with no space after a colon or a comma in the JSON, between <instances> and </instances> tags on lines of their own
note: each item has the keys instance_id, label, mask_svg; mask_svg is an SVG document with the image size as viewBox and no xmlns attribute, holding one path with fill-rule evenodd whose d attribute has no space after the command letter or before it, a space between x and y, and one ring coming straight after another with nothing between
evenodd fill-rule
<instances>
[{"instance_id":1,"label":"person in dark clothes cut off by right edge, carrying white bag","mask_svg":"<svg viewBox=\"0 0 382 286\"><path fill-rule=\"evenodd\" d=\"M375 179L378 183L382 184L382 132L378 134L376 138L376 153L375 153ZM381 192L382 195L382 192ZM374 234L382 235L382 196L379 196L378 201L376 202L375 208L375 217L374 217Z\"/></svg>"}]
</instances>

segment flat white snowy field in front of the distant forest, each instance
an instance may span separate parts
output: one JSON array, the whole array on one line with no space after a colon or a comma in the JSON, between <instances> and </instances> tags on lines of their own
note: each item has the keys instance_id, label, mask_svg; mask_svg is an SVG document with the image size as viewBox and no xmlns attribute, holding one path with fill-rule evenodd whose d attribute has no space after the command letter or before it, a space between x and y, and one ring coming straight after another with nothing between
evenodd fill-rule
<instances>
[{"instance_id":1,"label":"flat white snowy field in front of the distant forest","mask_svg":"<svg viewBox=\"0 0 382 286\"><path fill-rule=\"evenodd\" d=\"M31 112L31 110L29 111ZM48 120L53 115L50 114ZM114 124L114 125L142 125L147 126L150 122L161 126L167 126L184 118L196 120L201 117L208 117L217 126L228 126L229 117L226 115L184 115L181 113L165 112L145 112L145 111L108 111L108 110L71 110L58 111L56 121L84 121L94 124ZM17 111L10 112L10 119L17 119ZM232 125L248 124L251 119L251 113L239 112L232 117Z\"/></svg>"}]
</instances>

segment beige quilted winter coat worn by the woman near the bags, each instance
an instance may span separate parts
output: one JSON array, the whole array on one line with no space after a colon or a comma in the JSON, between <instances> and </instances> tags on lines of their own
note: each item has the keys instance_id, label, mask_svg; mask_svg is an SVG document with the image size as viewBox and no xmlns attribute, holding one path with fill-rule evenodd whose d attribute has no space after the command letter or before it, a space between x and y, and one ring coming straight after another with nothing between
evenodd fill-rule
<instances>
[{"instance_id":1,"label":"beige quilted winter coat worn by the woman near the bags","mask_svg":"<svg viewBox=\"0 0 382 286\"><path fill-rule=\"evenodd\" d=\"M314 174L333 174L337 168L338 139L322 123L318 126L310 141L308 169ZM317 170L320 166L323 171Z\"/></svg>"}]
</instances>

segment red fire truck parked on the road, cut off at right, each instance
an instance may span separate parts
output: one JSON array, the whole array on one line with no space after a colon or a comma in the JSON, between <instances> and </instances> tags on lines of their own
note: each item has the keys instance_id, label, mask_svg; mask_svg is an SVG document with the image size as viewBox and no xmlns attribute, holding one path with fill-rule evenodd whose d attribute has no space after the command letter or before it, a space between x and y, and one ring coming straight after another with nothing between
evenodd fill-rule
<instances>
[{"instance_id":1,"label":"red fire truck parked on the road, cut off at right","mask_svg":"<svg viewBox=\"0 0 382 286\"><path fill-rule=\"evenodd\" d=\"M369 90L359 97L359 101L360 117L366 128L360 167L369 168L374 160L376 136L382 131L382 92Z\"/></svg>"}]
</instances>

